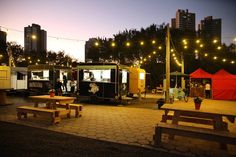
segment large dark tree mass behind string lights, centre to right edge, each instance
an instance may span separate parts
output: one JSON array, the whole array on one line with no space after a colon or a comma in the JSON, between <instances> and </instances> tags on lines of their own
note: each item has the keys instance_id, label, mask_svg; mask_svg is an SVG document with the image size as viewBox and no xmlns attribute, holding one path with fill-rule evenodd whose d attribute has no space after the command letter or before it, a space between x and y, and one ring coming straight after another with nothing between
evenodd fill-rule
<instances>
[{"instance_id":1,"label":"large dark tree mass behind string lights, centre to right edge","mask_svg":"<svg viewBox=\"0 0 236 157\"><path fill-rule=\"evenodd\" d=\"M233 51L235 44L231 44L229 47L225 44L214 44L213 39L200 39L197 33L193 31L171 29L170 32L171 49L174 50L171 54L175 54L180 60L183 53L185 73L190 74L197 68L202 68L210 73L214 73L221 68L230 73L236 73L235 64L222 62L223 58L227 58L228 61L229 59L236 60L235 49ZM135 62L146 58L147 61L141 64L141 68L144 68L150 74L150 85L156 86L162 82L165 74L165 36L165 24L160 26L152 24L140 30L126 29L115 34L114 38L97 38L96 41L99 42L99 46L92 46L87 50L87 59L102 62L117 61L120 64L131 66ZM183 39L187 40L187 49L184 49ZM202 47L196 43L199 39ZM155 40L155 44L152 42L153 40ZM112 47L112 42L116 46ZM127 42L130 42L130 46L126 45ZM143 42L142 45L141 42ZM218 46L220 46L220 50L217 49ZM156 53L153 54L153 51L156 51ZM208 57L205 56L205 53L208 54ZM151 55L150 58L149 55ZM213 60L214 56L218 56L219 59ZM180 71L180 67L173 58L171 59L171 71Z\"/></svg>"}]
</instances>

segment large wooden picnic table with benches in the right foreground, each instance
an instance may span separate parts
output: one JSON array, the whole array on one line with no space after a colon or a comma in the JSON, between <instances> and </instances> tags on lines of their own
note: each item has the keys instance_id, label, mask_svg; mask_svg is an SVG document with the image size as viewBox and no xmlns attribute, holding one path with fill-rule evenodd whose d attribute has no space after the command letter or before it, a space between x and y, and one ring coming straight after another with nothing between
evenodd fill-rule
<instances>
[{"instance_id":1,"label":"large wooden picnic table with benches in the right foreground","mask_svg":"<svg viewBox=\"0 0 236 157\"><path fill-rule=\"evenodd\" d=\"M174 135L180 135L218 141L223 149L227 148L226 144L236 144L236 134L228 129L228 123L234 123L236 118L236 111L230 106L202 104L201 109L196 110L194 104L179 103L164 104L160 109L164 110L164 114L156 127L156 144L160 144L161 134L164 132L170 135L170 139L173 139ZM227 121L224 121L223 117L226 117ZM167 124L167 120L170 120L171 124ZM194 127L193 124L208 125L211 129L204 125Z\"/></svg>"}]
</instances>

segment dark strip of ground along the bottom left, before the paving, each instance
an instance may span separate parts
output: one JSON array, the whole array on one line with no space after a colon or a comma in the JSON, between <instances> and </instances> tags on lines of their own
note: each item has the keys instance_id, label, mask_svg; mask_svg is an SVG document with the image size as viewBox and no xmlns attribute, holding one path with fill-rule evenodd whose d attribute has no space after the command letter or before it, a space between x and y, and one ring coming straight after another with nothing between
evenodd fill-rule
<instances>
[{"instance_id":1,"label":"dark strip of ground along the bottom left, before the paving","mask_svg":"<svg viewBox=\"0 0 236 157\"><path fill-rule=\"evenodd\" d=\"M178 157L162 150L83 138L0 121L1 157Z\"/></svg>"}]
</instances>

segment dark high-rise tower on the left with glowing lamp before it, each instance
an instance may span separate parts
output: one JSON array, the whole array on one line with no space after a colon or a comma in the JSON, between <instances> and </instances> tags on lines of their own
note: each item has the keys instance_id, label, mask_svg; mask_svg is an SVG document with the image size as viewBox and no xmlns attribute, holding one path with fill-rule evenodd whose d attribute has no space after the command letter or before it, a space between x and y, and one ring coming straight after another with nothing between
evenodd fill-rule
<instances>
[{"instance_id":1,"label":"dark high-rise tower on the left with glowing lamp before it","mask_svg":"<svg viewBox=\"0 0 236 157\"><path fill-rule=\"evenodd\" d=\"M32 24L25 27L25 53L42 53L47 51L47 32L40 25Z\"/></svg>"}]
</instances>

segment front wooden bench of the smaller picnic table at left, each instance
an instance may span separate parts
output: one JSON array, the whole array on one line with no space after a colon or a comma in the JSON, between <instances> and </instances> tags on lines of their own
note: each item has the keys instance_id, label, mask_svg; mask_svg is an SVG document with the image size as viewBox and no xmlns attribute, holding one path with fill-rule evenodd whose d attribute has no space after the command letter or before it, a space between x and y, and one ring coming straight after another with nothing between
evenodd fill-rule
<instances>
[{"instance_id":1,"label":"front wooden bench of the smaller picnic table at left","mask_svg":"<svg viewBox=\"0 0 236 157\"><path fill-rule=\"evenodd\" d=\"M19 120L21 119L22 116L24 116L24 118L27 118L27 114L30 113L33 115L48 117L52 124L59 123L61 121L60 111L58 110L38 108L32 106L19 106L16 108L16 110L17 110L17 117Z\"/></svg>"}]
</instances>

